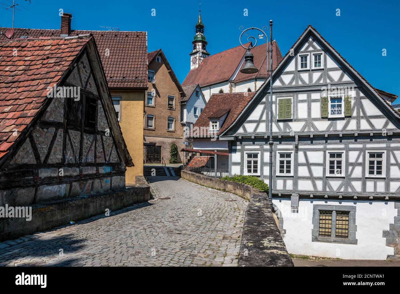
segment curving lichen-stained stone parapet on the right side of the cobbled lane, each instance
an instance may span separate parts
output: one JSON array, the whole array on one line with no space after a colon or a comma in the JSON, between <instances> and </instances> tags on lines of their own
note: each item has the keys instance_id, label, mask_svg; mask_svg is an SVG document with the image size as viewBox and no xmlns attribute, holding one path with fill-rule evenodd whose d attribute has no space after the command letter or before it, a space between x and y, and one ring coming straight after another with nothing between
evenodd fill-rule
<instances>
[{"instance_id":1,"label":"curving lichen-stained stone parapet on the right side of the cobbled lane","mask_svg":"<svg viewBox=\"0 0 400 294\"><path fill-rule=\"evenodd\" d=\"M182 178L250 200L244 216L239 266L293 266L276 226L268 195L251 186L182 170Z\"/></svg>"}]
</instances>

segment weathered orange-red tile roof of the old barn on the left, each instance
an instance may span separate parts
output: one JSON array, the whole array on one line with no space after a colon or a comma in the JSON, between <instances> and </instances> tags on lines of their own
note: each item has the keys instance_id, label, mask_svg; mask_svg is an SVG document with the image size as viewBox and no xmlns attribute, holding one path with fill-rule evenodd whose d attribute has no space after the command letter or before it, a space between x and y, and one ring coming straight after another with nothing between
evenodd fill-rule
<instances>
[{"instance_id":1,"label":"weathered orange-red tile roof of the old barn on the left","mask_svg":"<svg viewBox=\"0 0 400 294\"><path fill-rule=\"evenodd\" d=\"M60 81L91 38L0 42L0 158L42 109L47 87Z\"/></svg>"}]
</instances>

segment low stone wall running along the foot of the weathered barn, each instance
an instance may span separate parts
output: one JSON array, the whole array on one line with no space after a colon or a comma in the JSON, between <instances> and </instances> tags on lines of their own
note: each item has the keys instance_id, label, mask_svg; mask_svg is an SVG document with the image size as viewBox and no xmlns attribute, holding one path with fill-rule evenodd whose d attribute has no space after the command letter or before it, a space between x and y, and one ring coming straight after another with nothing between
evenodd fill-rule
<instances>
[{"instance_id":1,"label":"low stone wall running along the foot of the weathered barn","mask_svg":"<svg viewBox=\"0 0 400 294\"><path fill-rule=\"evenodd\" d=\"M32 206L32 220L0 218L0 241L17 238L68 224L90 216L105 214L150 200L150 186L143 176L136 176L136 187L100 195L85 195Z\"/></svg>"}]
</instances>

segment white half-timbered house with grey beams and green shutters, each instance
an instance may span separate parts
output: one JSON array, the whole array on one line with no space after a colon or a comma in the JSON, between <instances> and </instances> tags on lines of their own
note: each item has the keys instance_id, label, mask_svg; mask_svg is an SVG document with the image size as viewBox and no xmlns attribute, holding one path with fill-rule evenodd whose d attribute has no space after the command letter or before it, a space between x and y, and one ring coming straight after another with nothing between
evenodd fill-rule
<instances>
[{"instance_id":1,"label":"white half-timbered house with grey beams and green shutters","mask_svg":"<svg viewBox=\"0 0 400 294\"><path fill-rule=\"evenodd\" d=\"M400 117L312 27L220 134L229 172L269 179L289 253L399 259ZM266 120L267 118L267 120Z\"/></svg>"}]
</instances>

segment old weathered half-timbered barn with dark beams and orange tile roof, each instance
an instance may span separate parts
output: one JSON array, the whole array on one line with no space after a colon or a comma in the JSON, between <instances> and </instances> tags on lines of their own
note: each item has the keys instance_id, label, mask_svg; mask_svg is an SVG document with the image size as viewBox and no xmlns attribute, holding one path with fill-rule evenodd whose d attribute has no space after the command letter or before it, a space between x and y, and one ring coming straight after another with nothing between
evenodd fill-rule
<instances>
[{"instance_id":1,"label":"old weathered half-timbered barn with dark beams and orange tile roof","mask_svg":"<svg viewBox=\"0 0 400 294\"><path fill-rule=\"evenodd\" d=\"M2 49L8 53L6 49L14 46L26 56L21 44L17 41ZM0 202L30 205L124 189L126 166L131 166L132 160L93 38L28 41L27 47L31 44L38 46L31 54L42 62L38 70L47 64L50 69L35 79L36 68L32 68L22 90L16 81L2 85L20 92L8 96L15 100L14 105L35 112L2 108L2 112L17 112L11 117L16 120L2 122L14 133L7 132L8 138L0 145L6 151L0 158ZM26 68L30 70L30 64ZM23 80L27 72L20 74ZM35 84L42 85L40 93L30 91ZM38 97L29 100L30 96Z\"/></svg>"}]
</instances>

